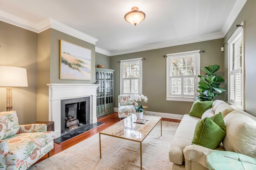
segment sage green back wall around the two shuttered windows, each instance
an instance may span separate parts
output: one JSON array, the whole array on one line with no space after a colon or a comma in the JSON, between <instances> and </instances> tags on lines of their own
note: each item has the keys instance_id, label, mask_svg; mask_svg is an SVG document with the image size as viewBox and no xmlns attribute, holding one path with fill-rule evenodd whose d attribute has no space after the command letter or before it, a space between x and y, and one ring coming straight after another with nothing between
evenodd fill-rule
<instances>
[{"instance_id":1,"label":"sage green back wall around the two shuttered windows","mask_svg":"<svg viewBox=\"0 0 256 170\"><path fill-rule=\"evenodd\" d=\"M117 98L120 94L120 63L124 59L146 58L142 61L142 94L148 97L148 111L161 113L185 114L191 109L193 102L166 101L166 58L163 56L170 53L184 51L204 50L201 53L201 68L210 64L220 65L217 74L224 76L224 53L220 51L223 39L203 41L186 45L178 45L162 49L154 49L137 53L116 55L110 57L110 69L114 72L114 107L118 107ZM204 72L201 71L201 74ZM224 87L224 84L221 85ZM223 100L224 95L218 96Z\"/></svg>"}]
</instances>

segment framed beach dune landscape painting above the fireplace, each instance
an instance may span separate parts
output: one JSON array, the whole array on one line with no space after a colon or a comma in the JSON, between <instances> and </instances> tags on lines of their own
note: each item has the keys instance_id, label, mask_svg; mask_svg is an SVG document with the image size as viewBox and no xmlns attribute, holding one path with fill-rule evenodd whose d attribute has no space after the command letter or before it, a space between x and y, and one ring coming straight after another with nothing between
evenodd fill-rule
<instances>
[{"instance_id":1,"label":"framed beach dune landscape painting above the fireplace","mask_svg":"<svg viewBox=\"0 0 256 170\"><path fill-rule=\"evenodd\" d=\"M60 40L60 79L91 80L92 51Z\"/></svg>"}]
</instances>

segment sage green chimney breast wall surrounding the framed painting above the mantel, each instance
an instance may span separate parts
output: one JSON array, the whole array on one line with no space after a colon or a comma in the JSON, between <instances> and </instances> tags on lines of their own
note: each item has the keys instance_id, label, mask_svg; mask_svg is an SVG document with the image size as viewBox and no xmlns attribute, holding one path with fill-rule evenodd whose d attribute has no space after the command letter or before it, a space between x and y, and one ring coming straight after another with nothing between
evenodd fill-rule
<instances>
[{"instance_id":1,"label":"sage green chimney breast wall surrounding the framed painting above the mantel","mask_svg":"<svg viewBox=\"0 0 256 170\"><path fill-rule=\"evenodd\" d=\"M40 42L43 42L42 49L45 52L46 62L42 63L42 67L47 68L46 71L40 72L40 79L38 81L38 110L37 110L37 120L48 121L49 120L49 87L47 84L57 83L57 84L92 84L95 82L95 45L83 41L81 39L72 37L66 33L62 33L55 29L48 29L44 31ZM91 49L92 51L92 77L91 80L62 80L60 79L60 39L68 41L70 43L80 45ZM45 43L45 44L44 44ZM39 45L38 45L39 46ZM39 56L38 58L41 58ZM43 77L41 77L43 76Z\"/></svg>"}]
</instances>

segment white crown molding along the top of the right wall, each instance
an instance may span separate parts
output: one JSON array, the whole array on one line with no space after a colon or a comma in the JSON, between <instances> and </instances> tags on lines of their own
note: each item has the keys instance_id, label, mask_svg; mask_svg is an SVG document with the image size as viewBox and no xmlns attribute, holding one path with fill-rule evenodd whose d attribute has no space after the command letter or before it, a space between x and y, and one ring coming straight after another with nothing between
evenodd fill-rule
<instances>
[{"instance_id":1,"label":"white crown molding along the top of the right wall","mask_svg":"<svg viewBox=\"0 0 256 170\"><path fill-rule=\"evenodd\" d=\"M232 24L234 23L234 21L236 20L238 14L240 13L240 11L242 10L242 8L244 7L244 4L246 3L247 0L236 0L229 16L228 19L226 20L226 23L224 24L223 28L222 28L222 33L224 35L226 35L226 33L228 32L228 30L230 29L230 27L232 26ZM237 23L240 24L240 23Z\"/></svg>"}]
</instances>

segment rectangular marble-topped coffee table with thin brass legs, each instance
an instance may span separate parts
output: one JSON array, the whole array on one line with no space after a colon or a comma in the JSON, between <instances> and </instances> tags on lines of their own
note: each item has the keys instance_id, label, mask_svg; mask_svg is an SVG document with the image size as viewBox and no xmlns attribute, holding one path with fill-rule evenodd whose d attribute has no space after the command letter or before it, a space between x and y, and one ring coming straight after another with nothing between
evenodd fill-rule
<instances>
[{"instance_id":1,"label":"rectangular marble-topped coffee table with thin brass legs","mask_svg":"<svg viewBox=\"0 0 256 170\"><path fill-rule=\"evenodd\" d=\"M161 122L162 136L162 117L143 115L142 119L148 120L145 124L133 123L136 121L136 115L132 114L129 117L119 121L118 123L101 131L100 135L108 135L129 141L140 143L140 169L142 170L142 141L148 136L156 124ZM100 140L100 158L101 158L101 140Z\"/></svg>"}]
</instances>

